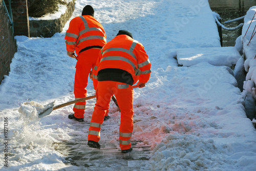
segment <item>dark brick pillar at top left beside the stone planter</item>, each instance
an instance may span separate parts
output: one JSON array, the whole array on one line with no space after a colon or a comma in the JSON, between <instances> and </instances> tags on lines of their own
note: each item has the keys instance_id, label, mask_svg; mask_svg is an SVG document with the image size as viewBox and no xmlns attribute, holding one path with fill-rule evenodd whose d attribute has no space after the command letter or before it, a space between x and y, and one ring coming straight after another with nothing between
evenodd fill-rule
<instances>
[{"instance_id":1,"label":"dark brick pillar at top left beside the stone planter","mask_svg":"<svg viewBox=\"0 0 256 171\"><path fill-rule=\"evenodd\" d=\"M8 0L4 0L8 8ZM14 36L30 37L27 0L11 0Z\"/></svg>"}]
</instances>

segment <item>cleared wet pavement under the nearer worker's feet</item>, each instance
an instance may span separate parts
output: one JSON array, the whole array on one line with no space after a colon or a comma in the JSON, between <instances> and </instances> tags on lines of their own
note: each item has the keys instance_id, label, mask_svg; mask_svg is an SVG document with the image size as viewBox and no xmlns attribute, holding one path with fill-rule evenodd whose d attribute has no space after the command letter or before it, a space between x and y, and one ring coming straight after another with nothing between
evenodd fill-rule
<instances>
[{"instance_id":1,"label":"cleared wet pavement under the nearer worker's feet","mask_svg":"<svg viewBox=\"0 0 256 171\"><path fill-rule=\"evenodd\" d=\"M77 128L89 128L89 125L89 121L84 121L77 124ZM104 136L112 136L112 132L102 132ZM100 144L101 149L90 148L83 136L74 136L71 141L58 143L56 151L66 156L69 166L62 170L151 170L150 146L138 147L138 142L132 142L133 151L121 153L115 143L100 141Z\"/></svg>"}]
</instances>

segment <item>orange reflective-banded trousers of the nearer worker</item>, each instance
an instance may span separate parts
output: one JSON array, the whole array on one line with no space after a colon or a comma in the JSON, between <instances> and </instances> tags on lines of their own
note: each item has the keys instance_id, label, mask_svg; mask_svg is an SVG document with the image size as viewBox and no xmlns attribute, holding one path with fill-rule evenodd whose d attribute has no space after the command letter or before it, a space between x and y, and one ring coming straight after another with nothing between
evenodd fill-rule
<instances>
[{"instance_id":1,"label":"orange reflective-banded trousers of the nearer worker","mask_svg":"<svg viewBox=\"0 0 256 171\"><path fill-rule=\"evenodd\" d=\"M108 112L110 100L113 94L116 97L121 112L119 127L119 145L121 150L131 148L131 137L133 133L133 87L125 83L115 81L99 81L91 124L88 133L88 140L98 142L100 139L100 128L104 116Z\"/></svg>"}]
</instances>

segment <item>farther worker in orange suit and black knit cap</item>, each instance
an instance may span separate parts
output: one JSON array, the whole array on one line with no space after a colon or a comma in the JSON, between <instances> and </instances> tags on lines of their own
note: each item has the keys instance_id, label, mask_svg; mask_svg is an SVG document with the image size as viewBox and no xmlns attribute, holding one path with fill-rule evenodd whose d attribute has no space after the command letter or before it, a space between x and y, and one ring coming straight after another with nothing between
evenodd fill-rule
<instances>
[{"instance_id":1,"label":"farther worker in orange suit and black knit cap","mask_svg":"<svg viewBox=\"0 0 256 171\"><path fill-rule=\"evenodd\" d=\"M88 76L96 65L102 46L106 44L106 35L102 25L94 18L94 9L87 5L82 10L82 15L70 21L66 36L67 54L77 59L74 95L75 99L86 97ZM74 55L76 52L77 57ZM83 121L86 101L75 103L74 114L70 119Z\"/></svg>"}]
</instances>

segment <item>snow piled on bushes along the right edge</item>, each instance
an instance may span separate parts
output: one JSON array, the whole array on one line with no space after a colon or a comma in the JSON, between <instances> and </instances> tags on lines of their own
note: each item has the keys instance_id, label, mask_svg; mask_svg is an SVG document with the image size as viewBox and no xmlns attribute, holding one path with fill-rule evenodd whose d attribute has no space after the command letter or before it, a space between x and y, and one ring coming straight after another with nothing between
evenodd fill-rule
<instances>
[{"instance_id":1,"label":"snow piled on bushes along the right edge","mask_svg":"<svg viewBox=\"0 0 256 171\"><path fill-rule=\"evenodd\" d=\"M255 119L256 114L256 6L251 7L244 18L244 26L242 35L236 41L236 47L243 51L244 59L240 59L237 63L237 70L235 75L244 81L243 84L243 97L246 102L246 114L251 120ZM253 37L254 36L254 37ZM246 73L243 73L245 70Z\"/></svg>"}]
</instances>

